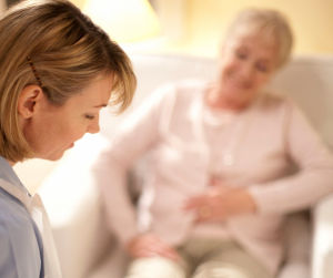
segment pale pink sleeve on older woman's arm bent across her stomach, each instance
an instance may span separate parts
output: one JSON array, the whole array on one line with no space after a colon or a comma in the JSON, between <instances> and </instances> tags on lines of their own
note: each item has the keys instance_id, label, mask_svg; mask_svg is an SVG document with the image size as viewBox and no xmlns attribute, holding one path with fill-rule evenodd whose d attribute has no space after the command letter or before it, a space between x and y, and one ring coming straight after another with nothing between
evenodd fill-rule
<instances>
[{"instance_id":1,"label":"pale pink sleeve on older woman's arm bent across her stomach","mask_svg":"<svg viewBox=\"0 0 333 278\"><path fill-rule=\"evenodd\" d=\"M260 214L296 212L312 206L333 191L332 156L304 115L293 105L285 127L286 153L299 172L250 186L249 192Z\"/></svg>"}]
</instances>

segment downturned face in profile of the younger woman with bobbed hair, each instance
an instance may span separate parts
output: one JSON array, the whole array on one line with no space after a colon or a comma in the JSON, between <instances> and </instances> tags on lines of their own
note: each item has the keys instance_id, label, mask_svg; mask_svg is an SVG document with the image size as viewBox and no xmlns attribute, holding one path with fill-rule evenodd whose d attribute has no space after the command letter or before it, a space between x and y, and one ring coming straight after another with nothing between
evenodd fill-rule
<instances>
[{"instance_id":1,"label":"downturned face in profile of the younger woman with bobbed hair","mask_svg":"<svg viewBox=\"0 0 333 278\"><path fill-rule=\"evenodd\" d=\"M99 112L110 100L112 84L112 76L95 81L60 107L48 101L38 105L38 113L23 127L37 157L57 161L85 133L99 132Z\"/></svg>"}]
</instances>

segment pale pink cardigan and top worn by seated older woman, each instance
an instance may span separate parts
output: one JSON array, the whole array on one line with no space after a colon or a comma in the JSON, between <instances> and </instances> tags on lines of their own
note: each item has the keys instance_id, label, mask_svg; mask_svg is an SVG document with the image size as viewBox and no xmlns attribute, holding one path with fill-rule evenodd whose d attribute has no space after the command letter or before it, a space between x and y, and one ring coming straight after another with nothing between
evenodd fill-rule
<instances>
[{"instance_id":1,"label":"pale pink cardigan and top worn by seated older woman","mask_svg":"<svg viewBox=\"0 0 333 278\"><path fill-rule=\"evenodd\" d=\"M261 93L221 136L221 145L228 144L236 123L245 123L234 164L223 166L221 175L228 185L249 188L258 213L195 225L194 215L184 214L181 204L204 192L210 178L202 120L206 87L203 81L167 84L123 123L94 167L108 223L123 243L148 230L174 246L193 234L233 238L274 274L282 260L284 215L333 191L332 157L290 101ZM137 213L127 171L148 151ZM292 166L299 171L291 175Z\"/></svg>"}]
</instances>

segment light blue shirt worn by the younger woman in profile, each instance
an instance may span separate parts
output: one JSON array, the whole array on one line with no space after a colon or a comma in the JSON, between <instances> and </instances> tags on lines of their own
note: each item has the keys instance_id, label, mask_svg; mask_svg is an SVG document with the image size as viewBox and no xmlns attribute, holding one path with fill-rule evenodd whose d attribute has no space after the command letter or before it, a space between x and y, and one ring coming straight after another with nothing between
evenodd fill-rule
<instances>
[{"instance_id":1,"label":"light blue shirt worn by the younger woman in profile","mask_svg":"<svg viewBox=\"0 0 333 278\"><path fill-rule=\"evenodd\" d=\"M29 194L2 156L0 178ZM23 204L0 188L0 277L43 276L43 244L39 229Z\"/></svg>"}]
</instances>

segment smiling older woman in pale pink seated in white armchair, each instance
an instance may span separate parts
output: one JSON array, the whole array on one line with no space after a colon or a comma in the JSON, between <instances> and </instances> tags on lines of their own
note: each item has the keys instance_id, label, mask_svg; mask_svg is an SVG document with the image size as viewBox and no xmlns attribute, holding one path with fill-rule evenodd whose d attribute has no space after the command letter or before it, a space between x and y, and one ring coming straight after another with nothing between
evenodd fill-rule
<instances>
[{"instance_id":1,"label":"smiling older woman in pale pink seated in white armchair","mask_svg":"<svg viewBox=\"0 0 333 278\"><path fill-rule=\"evenodd\" d=\"M289 59L274 10L241 12L212 81L158 90L95 166L127 278L273 277L287 213L333 189L333 161L293 103L264 89ZM150 151L139 213L125 173ZM296 173L291 168L297 166Z\"/></svg>"}]
</instances>

